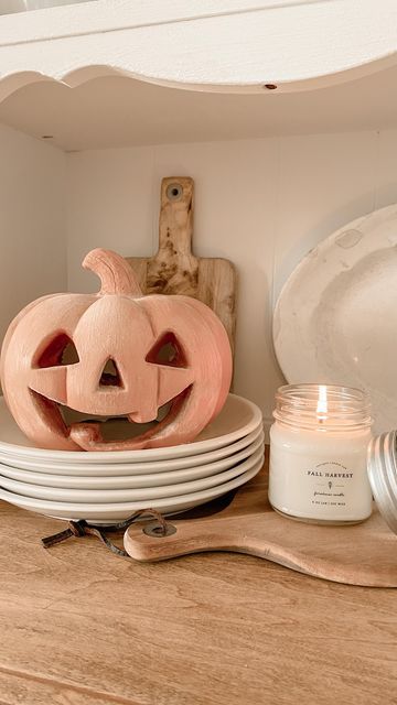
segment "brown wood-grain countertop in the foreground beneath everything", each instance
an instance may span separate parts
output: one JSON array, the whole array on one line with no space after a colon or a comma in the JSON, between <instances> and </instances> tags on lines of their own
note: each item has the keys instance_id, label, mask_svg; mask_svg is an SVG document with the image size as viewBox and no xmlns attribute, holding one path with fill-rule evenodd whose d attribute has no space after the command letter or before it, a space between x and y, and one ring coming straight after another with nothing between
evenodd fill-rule
<instances>
[{"instance_id":1,"label":"brown wood-grain countertop in the foreground beneath everything","mask_svg":"<svg viewBox=\"0 0 397 705\"><path fill-rule=\"evenodd\" d=\"M0 518L0 705L397 703L393 589L237 554L135 563L90 536L46 551L64 522Z\"/></svg>"}]
</instances>

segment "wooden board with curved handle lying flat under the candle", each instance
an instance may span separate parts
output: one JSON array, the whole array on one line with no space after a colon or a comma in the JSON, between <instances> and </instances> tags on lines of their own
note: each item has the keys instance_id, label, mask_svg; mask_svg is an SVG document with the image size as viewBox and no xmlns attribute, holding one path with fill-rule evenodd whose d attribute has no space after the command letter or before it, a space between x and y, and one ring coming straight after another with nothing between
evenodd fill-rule
<instances>
[{"instance_id":1,"label":"wooden board with curved handle lying flat under the candle","mask_svg":"<svg viewBox=\"0 0 397 705\"><path fill-rule=\"evenodd\" d=\"M203 551L233 551L273 561L293 571L336 583L397 587L397 535L374 513L362 524L320 527L275 512L257 478L242 488L219 513L198 519L169 518L168 536L132 524L125 549L137 561L164 561Z\"/></svg>"}]
</instances>

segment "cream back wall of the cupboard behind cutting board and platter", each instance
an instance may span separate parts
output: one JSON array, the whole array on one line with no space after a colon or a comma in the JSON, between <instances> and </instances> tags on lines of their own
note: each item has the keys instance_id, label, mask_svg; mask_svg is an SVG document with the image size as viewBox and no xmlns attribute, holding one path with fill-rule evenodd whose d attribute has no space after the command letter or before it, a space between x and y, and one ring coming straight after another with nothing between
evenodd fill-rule
<instances>
[{"instance_id":1,"label":"cream back wall of the cupboard behind cutting board and platter","mask_svg":"<svg viewBox=\"0 0 397 705\"><path fill-rule=\"evenodd\" d=\"M239 273L235 389L272 411L283 379L271 344L275 297L301 257L335 228L397 200L397 131L132 148L68 155L68 288L93 291L93 247L155 251L159 187L196 184L195 251Z\"/></svg>"}]
</instances>

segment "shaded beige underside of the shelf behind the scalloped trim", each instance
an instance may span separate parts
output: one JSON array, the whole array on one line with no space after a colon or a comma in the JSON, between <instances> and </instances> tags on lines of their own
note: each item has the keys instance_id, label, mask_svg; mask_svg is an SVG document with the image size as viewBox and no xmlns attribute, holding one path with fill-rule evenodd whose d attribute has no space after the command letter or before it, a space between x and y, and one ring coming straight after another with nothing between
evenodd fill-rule
<instances>
[{"instance_id":1,"label":"shaded beige underside of the shelf behind the scalloped trim","mask_svg":"<svg viewBox=\"0 0 397 705\"><path fill-rule=\"evenodd\" d=\"M0 104L0 122L64 151L397 127L397 67L330 88L225 95L105 77L35 83Z\"/></svg>"}]
</instances>

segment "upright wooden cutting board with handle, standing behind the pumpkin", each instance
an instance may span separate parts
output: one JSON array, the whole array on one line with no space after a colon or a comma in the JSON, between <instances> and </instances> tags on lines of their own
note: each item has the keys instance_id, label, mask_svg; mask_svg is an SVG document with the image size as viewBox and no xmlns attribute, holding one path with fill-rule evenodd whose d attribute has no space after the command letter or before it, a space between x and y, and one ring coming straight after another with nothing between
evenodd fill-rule
<instances>
[{"instance_id":1,"label":"upright wooden cutting board with handle, standing behind the pumpkin","mask_svg":"<svg viewBox=\"0 0 397 705\"><path fill-rule=\"evenodd\" d=\"M236 270L226 259L193 254L193 178L163 178L159 251L150 258L127 259L144 294L184 294L210 306L224 324L234 350Z\"/></svg>"}]
</instances>

